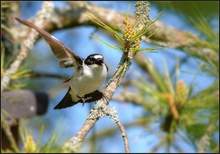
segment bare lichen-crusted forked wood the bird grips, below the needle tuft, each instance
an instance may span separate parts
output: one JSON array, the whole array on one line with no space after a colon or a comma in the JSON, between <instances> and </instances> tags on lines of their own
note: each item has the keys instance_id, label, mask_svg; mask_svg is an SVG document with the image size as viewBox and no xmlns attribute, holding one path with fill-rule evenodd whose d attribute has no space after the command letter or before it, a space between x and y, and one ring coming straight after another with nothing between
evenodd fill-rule
<instances>
[{"instance_id":1,"label":"bare lichen-crusted forked wood the bird grips, below the needle tuft","mask_svg":"<svg viewBox=\"0 0 220 154\"><path fill-rule=\"evenodd\" d=\"M66 146L72 147L72 149L76 151L80 147L80 144L83 142L86 135L95 125L97 120L101 117L104 117L105 115L109 115L111 119L113 119L113 121L115 121L117 125L119 126L122 132L122 137L124 139L125 152L129 153L128 140L127 140L125 129L121 125L119 118L117 117L117 114L115 113L116 111L112 108L107 107L107 103L108 103L107 99L110 100L111 97L113 96L123 76L125 75L128 68L130 67L131 61L132 61L132 57L128 58L128 53L124 53L115 74L112 76L106 88L104 89L103 94L105 98L102 98L96 103L95 107L90 111L90 114L88 115L88 118L83 124L82 128L79 130L76 136L70 139L70 141L66 144Z\"/></svg>"}]
</instances>

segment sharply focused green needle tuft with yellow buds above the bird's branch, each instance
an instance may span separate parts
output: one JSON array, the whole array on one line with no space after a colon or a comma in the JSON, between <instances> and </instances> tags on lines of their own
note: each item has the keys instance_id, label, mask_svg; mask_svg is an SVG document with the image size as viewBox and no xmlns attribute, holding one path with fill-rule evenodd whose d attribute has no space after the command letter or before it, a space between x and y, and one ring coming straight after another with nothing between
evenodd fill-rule
<instances>
[{"instance_id":1,"label":"sharply focused green needle tuft with yellow buds above the bird's branch","mask_svg":"<svg viewBox=\"0 0 220 154\"><path fill-rule=\"evenodd\" d=\"M133 52L149 52L149 51L153 51L153 50L158 50L161 48L158 47L152 47L152 48L136 48L135 47L135 40L139 39L141 36L143 36L144 34L146 34L149 31L153 30L153 33L149 36L147 36L147 38L151 37L152 35L154 35L157 31L155 30L155 28L153 26L151 26L156 20L160 19L162 17L163 13L159 13L158 15L156 15L154 18L152 18L151 20L149 20L141 29L139 29L138 25L145 19L140 18L136 24L131 27L131 25L129 24L129 9L128 12L126 14L126 19L125 19L125 24L129 25L128 30L122 30L121 28L119 28L117 25L106 25L105 23L103 23L102 21L100 21L97 17L95 17L92 14L88 14L87 18L91 21L93 21L94 23L96 23L98 26L104 28L105 30L113 33L116 37L116 39L118 40L119 45L110 45L109 43L107 43L106 41L104 41L103 39L99 38L96 35L92 35L91 37L96 38L97 40L103 42L104 44L106 44L107 46L113 48L113 49L117 49L117 50L122 50L124 52L127 52L125 50L125 46L126 46L126 41L129 40L129 45L134 44L134 46L131 46L131 51ZM128 26L127 25L127 26ZM131 35L130 37L128 37L128 33L132 33L133 35Z\"/></svg>"}]
</instances>

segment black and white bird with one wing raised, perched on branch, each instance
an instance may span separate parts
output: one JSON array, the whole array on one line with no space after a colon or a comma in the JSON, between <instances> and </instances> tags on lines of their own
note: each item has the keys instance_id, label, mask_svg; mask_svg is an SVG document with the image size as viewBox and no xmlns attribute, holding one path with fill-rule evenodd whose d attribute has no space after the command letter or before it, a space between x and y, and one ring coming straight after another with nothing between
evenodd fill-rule
<instances>
[{"instance_id":1,"label":"black and white bird with one wing raised, perched on branch","mask_svg":"<svg viewBox=\"0 0 220 154\"><path fill-rule=\"evenodd\" d=\"M103 55L91 54L83 59L45 30L26 20L17 17L15 19L39 32L40 36L49 44L61 68L75 68L73 75L64 81L69 85L66 95L54 109L71 107L77 103L98 101L104 96L98 90L104 84L108 74L108 66L104 63Z\"/></svg>"}]
</instances>

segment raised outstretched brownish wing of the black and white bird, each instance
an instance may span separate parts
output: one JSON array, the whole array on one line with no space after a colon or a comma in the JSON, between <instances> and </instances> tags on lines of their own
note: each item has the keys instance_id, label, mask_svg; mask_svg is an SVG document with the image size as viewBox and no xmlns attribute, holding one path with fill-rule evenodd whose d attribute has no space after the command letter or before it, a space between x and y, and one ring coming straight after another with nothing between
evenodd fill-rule
<instances>
[{"instance_id":1,"label":"raised outstretched brownish wing of the black and white bird","mask_svg":"<svg viewBox=\"0 0 220 154\"><path fill-rule=\"evenodd\" d=\"M77 69L79 65L82 65L83 59L67 46L65 46L63 43L61 43L57 38L28 21L21 20L19 18L15 19L21 24L33 28L40 33L40 35L50 45L50 48L57 58L60 67L76 67Z\"/></svg>"}]
</instances>

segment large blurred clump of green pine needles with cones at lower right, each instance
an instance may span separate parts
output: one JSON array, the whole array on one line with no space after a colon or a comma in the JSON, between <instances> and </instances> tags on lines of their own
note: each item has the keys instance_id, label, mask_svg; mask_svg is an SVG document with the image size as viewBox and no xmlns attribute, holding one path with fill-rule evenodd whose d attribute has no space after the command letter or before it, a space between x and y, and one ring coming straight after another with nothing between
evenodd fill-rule
<instances>
[{"instance_id":1,"label":"large blurred clump of green pine needles with cones at lower right","mask_svg":"<svg viewBox=\"0 0 220 154\"><path fill-rule=\"evenodd\" d=\"M199 141L203 138L203 136L208 134L207 136L210 136L210 138L207 142L210 145L212 144L213 150L217 148L218 143L215 142L212 135L219 129L217 126L217 123L219 122L218 81L213 83L207 89L194 94L193 96L191 95L190 97L189 95L187 96L187 94L184 94L185 92L179 93L177 89L175 90L175 84L172 84L169 74L166 73L168 72L166 67L164 69L165 73L161 74L154 67L152 62L148 61L147 65L148 74L154 80L153 83L149 84L149 82L142 76L138 76L138 79L134 82L134 86L137 88L136 90L138 94L136 95L138 97L143 96L144 98L141 102L137 103L144 107L146 115L148 115L148 120L152 123L160 122L160 131L165 131L167 133L167 137L165 137L167 142L163 142L164 138L161 138L161 142L159 142L155 148L157 146L157 148L159 148L162 145L167 145L169 147L173 146L176 142L174 134L179 135L183 140L185 140L185 136L182 136L180 133L181 131L189 137L190 144L200 143ZM195 75L198 76L198 74ZM176 79L176 81L178 80L179 79ZM184 83L184 81L182 82ZM192 85L189 87L194 87ZM186 88L187 87L185 87L185 89ZM189 90L189 88L187 89ZM192 88L192 91L193 90L194 88ZM165 93L169 93L170 98L174 100L178 113L177 119L175 119L172 107L169 105L170 99L166 100L163 98ZM177 99L180 96L182 99ZM186 96L188 97L187 99ZM179 101L183 101L184 104L178 103ZM147 132L150 130L150 127L150 125L146 127ZM210 127L212 129L210 129ZM198 148L203 146L204 144L198 144ZM211 147L206 146L204 150L207 150L208 148Z\"/></svg>"}]
</instances>

